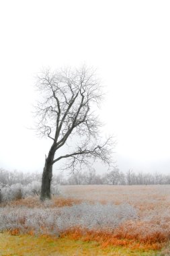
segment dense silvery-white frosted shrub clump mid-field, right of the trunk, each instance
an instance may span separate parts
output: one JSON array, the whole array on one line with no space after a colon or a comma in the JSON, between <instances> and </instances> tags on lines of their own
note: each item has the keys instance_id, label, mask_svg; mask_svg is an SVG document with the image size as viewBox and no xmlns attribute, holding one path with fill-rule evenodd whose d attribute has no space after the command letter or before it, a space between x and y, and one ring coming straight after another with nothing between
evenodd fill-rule
<instances>
[{"instance_id":1,"label":"dense silvery-white frosted shrub clump mid-field, right of the trunk","mask_svg":"<svg viewBox=\"0 0 170 256\"><path fill-rule=\"evenodd\" d=\"M102 205L81 203L72 207L62 207L62 214L56 219L59 229L83 226L85 228L116 228L125 220L137 218L131 205Z\"/></svg>"}]
</instances>

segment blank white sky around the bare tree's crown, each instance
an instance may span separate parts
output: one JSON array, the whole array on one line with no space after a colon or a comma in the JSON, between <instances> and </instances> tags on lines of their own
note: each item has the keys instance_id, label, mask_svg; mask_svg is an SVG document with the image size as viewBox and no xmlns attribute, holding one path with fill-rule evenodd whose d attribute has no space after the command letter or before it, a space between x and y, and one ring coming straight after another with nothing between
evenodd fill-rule
<instances>
[{"instance_id":1,"label":"blank white sky around the bare tree's crown","mask_svg":"<svg viewBox=\"0 0 170 256\"><path fill-rule=\"evenodd\" d=\"M42 67L97 67L121 170L170 171L170 2L1 1L0 167L42 170L51 141L31 127ZM101 168L102 170L102 168Z\"/></svg>"}]
</instances>

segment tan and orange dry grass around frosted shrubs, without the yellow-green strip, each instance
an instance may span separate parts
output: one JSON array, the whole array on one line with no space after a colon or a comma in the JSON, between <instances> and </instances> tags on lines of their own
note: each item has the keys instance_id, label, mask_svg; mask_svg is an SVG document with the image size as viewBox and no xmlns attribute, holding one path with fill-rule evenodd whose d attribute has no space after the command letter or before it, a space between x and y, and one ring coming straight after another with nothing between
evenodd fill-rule
<instances>
[{"instance_id":1,"label":"tan and orange dry grass around frosted shrubs, without the yellow-green strip","mask_svg":"<svg viewBox=\"0 0 170 256\"><path fill-rule=\"evenodd\" d=\"M75 239L75 241L81 240L82 243L95 241L102 248L114 245L143 250L160 249L169 241L170 185L73 185L60 186L60 191L62 197L54 197L52 201L45 203L41 203L38 197L28 197L3 204L3 207L8 205L10 207L54 208L72 206L82 201L90 203L99 201L103 204L114 203L117 205L129 203L138 211L138 220L124 222L112 233L107 229L100 231L82 230L81 228L67 230L62 233L63 239L67 235L67 238ZM17 229L11 230L11 234L18 233ZM167 248L165 251L167 252L169 249Z\"/></svg>"}]
</instances>

